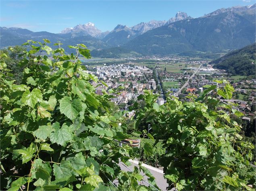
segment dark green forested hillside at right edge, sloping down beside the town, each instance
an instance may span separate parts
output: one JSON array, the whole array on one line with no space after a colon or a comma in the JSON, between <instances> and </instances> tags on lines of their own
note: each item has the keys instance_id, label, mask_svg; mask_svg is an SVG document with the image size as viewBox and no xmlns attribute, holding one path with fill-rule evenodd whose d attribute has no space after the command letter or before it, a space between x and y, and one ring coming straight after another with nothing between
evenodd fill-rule
<instances>
[{"instance_id":1,"label":"dark green forested hillside at right edge, sloping down beside the town","mask_svg":"<svg viewBox=\"0 0 256 191\"><path fill-rule=\"evenodd\" d=\"M256 44L232 51L223 57L211 61L214 68L225 69L233 75L255 75Z\"/></svg>"}]
</instances>

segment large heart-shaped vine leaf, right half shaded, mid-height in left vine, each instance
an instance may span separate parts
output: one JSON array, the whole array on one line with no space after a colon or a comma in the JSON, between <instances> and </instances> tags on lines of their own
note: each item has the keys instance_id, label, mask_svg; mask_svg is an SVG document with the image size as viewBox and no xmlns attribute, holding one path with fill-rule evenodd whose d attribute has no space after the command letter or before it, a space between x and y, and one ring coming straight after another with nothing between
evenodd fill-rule
<instances>
[{"instance_id":1,"label":"large heart-shaped vine leaf, right half shaded, mid-height in left vine","mask_svg":"<svg viewBox=\"0 0 256 191\"><path fill-rule=\"evenodd\" d=\"M79 99L74 99L72 101L71 97L66 96L60 100L60 113L71 120L77 118L82 109L81 100Z\"/></svg>"}]
</instances>

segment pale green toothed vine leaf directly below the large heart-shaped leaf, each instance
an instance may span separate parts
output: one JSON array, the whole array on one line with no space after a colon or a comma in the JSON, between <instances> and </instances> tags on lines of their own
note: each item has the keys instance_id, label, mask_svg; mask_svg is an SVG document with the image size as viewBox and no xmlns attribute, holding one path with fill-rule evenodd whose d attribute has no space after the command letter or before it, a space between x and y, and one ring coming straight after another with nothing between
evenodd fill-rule
<instances>
[{"instance_id":1,"label":"pale green toothed vine leaf directly below the large heart-shaped leaf","mask_svg":"<svg viewBox=\"0 0 256 191\"><path fill-rule=\"evenodd\" d=\"M54 132L50 134L51 142L60 144L61 146L64 146L67 142L71 141L72 138L72 129L66 124L63 124L58 130L55 129Z\"/></svg>"}]
</instances>

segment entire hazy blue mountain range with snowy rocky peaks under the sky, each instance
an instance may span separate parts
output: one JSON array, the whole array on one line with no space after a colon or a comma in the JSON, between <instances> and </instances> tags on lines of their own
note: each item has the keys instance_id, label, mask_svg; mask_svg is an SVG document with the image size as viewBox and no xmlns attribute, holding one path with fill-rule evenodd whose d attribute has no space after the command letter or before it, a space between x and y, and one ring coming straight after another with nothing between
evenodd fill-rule
<instances>
[{"instance_id":1,"label":"entire hazy blue mountain range with snowy rocky peaks under the sky","mask_svg":"<svg viewBox=\"0 0 256 191\"><path fill-rule=\"evenodd\" d=\"M65 28L59 34L0 27L1 47L46 38L61 41L63 46L83 43L97 57L223 53L255 42L255 10L256 4L221 8L199 18L178 12L167 21L131 27L118 24L110 32L100 31L91 22Z\"/></svg>"}]
</instances>

